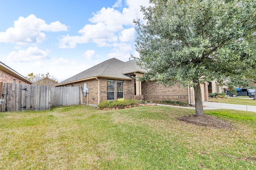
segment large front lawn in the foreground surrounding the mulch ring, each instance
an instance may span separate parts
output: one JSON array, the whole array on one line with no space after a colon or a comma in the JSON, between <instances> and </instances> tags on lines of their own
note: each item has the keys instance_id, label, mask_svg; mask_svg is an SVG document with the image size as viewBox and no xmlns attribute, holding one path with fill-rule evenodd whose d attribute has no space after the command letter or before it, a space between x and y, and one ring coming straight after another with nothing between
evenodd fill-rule
<instances>
[{"instance_id":1,"label":"large front lawn in the foreground surrounding the mulch ring","mask_svg":"<svg viewBox=\"0 0 256 170\"><path fill-rule=\"evenodd\" d=\"M256 169L256 114L205 112L234 130L180 122L195 111L174 107L0 113L0 169Z\"/></svg>"}]
</instances>

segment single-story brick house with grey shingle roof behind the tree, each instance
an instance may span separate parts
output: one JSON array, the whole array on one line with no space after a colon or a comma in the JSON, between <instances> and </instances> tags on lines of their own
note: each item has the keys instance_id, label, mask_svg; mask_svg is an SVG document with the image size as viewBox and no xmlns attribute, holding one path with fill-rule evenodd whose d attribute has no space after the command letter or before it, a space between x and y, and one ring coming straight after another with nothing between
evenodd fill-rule
<instances>
[{"instance_id":1,"label":"single-story brick house with grey shingle roof behind the tree","mask_svg":"<svg viewBox=\"0 0 256 170\"><path fill-rule=\"evenodd\" d=\"M150 101L183 101L194 104L194 89L175 84L166 87L155 81L138 81L145 70L141 69L135 60L120 61L116 58L108 59L90 69L70 77L54 86L81 86L87 83L88 94L83 103L94 104L106 100L146 99ZM202 85L202 99L208 99L207 84Z\"/></svg>"}]
</instances>

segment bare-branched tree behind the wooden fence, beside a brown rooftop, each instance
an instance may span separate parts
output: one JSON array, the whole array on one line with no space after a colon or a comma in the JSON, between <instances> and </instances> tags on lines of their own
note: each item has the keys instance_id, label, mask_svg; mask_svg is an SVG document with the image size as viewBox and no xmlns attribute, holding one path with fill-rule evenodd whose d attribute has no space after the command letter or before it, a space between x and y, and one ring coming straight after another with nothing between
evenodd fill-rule
<instances>
[{"instance_id":1,"label":"bare-branched tree behind the wooden fence, beside a brown rooftop","mask_svg":"<svg viewBox=\"0 0 256 170\"><path fill-rule=\"evenodd\" d=\"M58 83L58 79L51 76L49 73L47 74L37 74L34 75L34 73L28 74L26 76L27 79L34 82L35 85L46 85L46 86L53 86Z\"/></svg>"}]
</instances>

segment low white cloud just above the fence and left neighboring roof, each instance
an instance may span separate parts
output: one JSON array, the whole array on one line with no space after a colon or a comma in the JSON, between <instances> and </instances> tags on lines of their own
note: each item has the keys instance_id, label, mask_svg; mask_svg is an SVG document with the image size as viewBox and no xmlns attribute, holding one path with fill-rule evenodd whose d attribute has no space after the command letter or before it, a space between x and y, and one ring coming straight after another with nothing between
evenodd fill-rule
<instances>
[{"instance_id":1,"label":"low white cloud just above the fence and left neighboring roof","mask_svg":"<svg viewBox=\"0 0 256 170\"><path fill-rule=\"evenodd\" d=\"M6 56L8 61L11 62L27 62L32 63L34 61L49 59L48 50L43 51L38 47L29 47L26 50L19 49L17 52L12 51Z\"/></svg>"}]
</instances>

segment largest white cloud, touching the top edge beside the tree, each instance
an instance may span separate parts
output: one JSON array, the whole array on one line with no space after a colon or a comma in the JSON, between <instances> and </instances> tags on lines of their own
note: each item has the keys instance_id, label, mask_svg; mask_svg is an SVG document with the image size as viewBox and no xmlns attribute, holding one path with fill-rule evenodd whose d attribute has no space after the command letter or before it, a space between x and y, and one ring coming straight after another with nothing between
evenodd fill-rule
<instances>
[{"instance_id":1,"label":"largest white cloud, touching the top edge beside the tree","mask_svg":"<svg viewBox=\"0 0 256 170\"><path fill-rule=\"evenodd\" d=\"M76 43L96 43L100 47L112 46L112 43L134 41L134 28L125 29L124 27L133 26L133 20L143 18L140 12L140 5L148 6L148 0L126 0L128 8L123 8L120 12L114 8L102 8L93 13L89 19L93 24L85 25L79 30L80 36L63 36L59 39L60 48L75 48ZM120 6L122 0L118 0L113 7ZM119 36L119 37L118 37Z\"/></svg>"}]
</instances>

